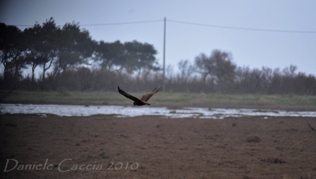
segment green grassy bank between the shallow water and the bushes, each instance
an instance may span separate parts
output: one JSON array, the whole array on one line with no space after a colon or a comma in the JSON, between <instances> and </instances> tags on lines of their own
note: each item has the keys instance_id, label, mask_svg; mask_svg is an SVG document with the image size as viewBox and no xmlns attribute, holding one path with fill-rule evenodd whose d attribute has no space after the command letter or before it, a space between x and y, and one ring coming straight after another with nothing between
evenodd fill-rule
<instances>
[{"instance_id":1,"label":"green grassy bank between the shallow water and the bushes","mask_svg":"<svg viewBox=\"0 0 316 179\"><path fill-rule=\"evenodd\" d=\"M131 92L141 97L145 92ZM263 94L214 94L164 92L155 94L150 101L155 106L262 108L316 110L316 96L308 95L263 95ZM13 91L3 103L23 104L75 104L75 105L132 105L130 99L114 91Z\"/></svg>"}]
</instances>

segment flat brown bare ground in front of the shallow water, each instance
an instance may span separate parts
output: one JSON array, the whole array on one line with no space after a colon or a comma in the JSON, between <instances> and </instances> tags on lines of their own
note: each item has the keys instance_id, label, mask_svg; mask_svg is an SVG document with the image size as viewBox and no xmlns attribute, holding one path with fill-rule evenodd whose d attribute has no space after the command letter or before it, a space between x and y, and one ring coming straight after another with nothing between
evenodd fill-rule
<instances>
[{"instance_id":1,"label":"flat brown bare ground in front of the shallow water","mask_svg":"<svg viewBox=\"0 0 316 179\"><path fill-rule=\"evenodd\" d=\"M1 178L315 179L316 131L307 123L316 128L316 118L300 117L6 114L0 116ZM7 161L12 170L3 172Z\"/></svg>"}]
</instances>

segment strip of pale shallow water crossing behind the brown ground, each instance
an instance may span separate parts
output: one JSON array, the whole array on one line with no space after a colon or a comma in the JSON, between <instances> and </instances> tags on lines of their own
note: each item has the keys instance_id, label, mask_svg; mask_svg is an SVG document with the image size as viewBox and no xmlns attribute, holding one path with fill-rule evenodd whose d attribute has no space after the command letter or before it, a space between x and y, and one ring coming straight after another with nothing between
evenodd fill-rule
<instances>
[{"instance_id":1,"label":"strip of pale shallow water crossing behind the brown ground","mask_svg":"<svg viewBox=\"0 0 316 179\"><path fill-rule=\"evenodd\" d=\"M55 104L2 104L2 113L10 114L53 114L58 116L91 116L97 114L114 115L116 117L161 116L166 118L211 118L226 117L274 116L316 117L316 111L284 111L258 109L224 109L185 107L182 109L168 109L166 107L149 106L82 106Z\"/></svg>"}]
</instances>

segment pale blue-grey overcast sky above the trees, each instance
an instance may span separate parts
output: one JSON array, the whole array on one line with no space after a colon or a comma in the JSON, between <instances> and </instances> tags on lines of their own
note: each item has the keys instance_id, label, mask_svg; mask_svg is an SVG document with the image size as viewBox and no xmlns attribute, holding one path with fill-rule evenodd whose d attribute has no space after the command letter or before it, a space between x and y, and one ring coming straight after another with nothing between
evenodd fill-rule
<instances>
[{"instance_id":1,"label":"pale blue-grey overcast sky above the trees","mask_svg":"<svg viewBox=\"0 0 316 179\"><path fill-rule=\"evenodd\" d=\"M0 0L0 22L7 25L50 17L60 26L79 22L96 41L152 44L161 66L165 17L166 65L175 69L181 59L194 62L220 49L231 52L237 66L292 64L316 75L316 0ZM154 22L100 25L143 21Z\"/></svg>"}]
</instances>

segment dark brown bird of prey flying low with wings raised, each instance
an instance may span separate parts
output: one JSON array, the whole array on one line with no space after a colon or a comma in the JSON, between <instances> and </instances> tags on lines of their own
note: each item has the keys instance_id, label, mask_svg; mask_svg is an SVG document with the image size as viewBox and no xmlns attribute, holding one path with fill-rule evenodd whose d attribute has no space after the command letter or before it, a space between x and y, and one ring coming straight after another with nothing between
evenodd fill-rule
<instances>
[{"instance_id":1,"label":"dark brown bird of prey flying low with wings raised","mask_svg":"<svg viewBox=\"0 0 316 179\"><path fill-rule=\"evenodd\" d=\"M122 94L123 96L125 96L125 97L127 97L127 98L129 98L129 99L131 99L131 100L134 101L134 103L133 103L134 106L142 106L142 105L145 105L145 104L147 104L147 105L156 104L156 102L147 102L147 101L148 101L154 94L156 94L157 92L159 92L159 91L161 91L161 90L162 90L161 87L158 88L158 89L155 88L155 89L152 90L151 92L148 92L148 93L144 94L144 95L142 96L142 98L138 99L137 97L134 97L134 96L132 96L132 95L126 93L125 91L123 91L122 89L119 89L119 87L118 87L118 92L119 92L120 94Z\"/></svg>"}]
</instances>

